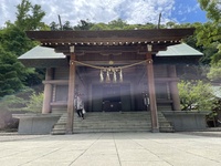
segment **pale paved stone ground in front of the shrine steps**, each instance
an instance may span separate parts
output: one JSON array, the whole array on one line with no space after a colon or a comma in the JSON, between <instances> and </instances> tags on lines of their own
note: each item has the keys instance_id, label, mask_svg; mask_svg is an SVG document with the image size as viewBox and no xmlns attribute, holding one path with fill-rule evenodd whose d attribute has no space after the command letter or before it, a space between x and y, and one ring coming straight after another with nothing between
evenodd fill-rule
<instances>
[{"instance_id":1,"label":"pale paved stone ground in front of the shrine steps","mask_svg":"<svg viewBox=\"0 0 221 166\"><path fill-rule=\"evenodd\" d=\"M0 166L220 166L220 136L221 132L0 133Z\"/></svg>"}]
</instances>

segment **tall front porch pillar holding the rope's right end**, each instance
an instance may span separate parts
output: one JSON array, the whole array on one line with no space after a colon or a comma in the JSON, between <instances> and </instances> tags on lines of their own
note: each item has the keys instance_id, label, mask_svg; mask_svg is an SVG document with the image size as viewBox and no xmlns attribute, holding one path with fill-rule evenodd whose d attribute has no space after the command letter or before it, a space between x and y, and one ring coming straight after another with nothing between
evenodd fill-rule
<instances>
[{"instance_id":1,"label":"tall front porch pillar holding the rope's right end","mask_svg":"<svg viewBox=\"0 0 221 166\"><path fill-rule=\"evenodd\" d=\"M158 114L157 114L157 101L155 93L155 76L154 76L154 66L152 66L152 56L151 49L148 45L148 52L146 53L147 60L147 82L149 90L149 104L150 104L150 114L151 114L151 132L159 132Z\"/></svg>"}]
</instances>

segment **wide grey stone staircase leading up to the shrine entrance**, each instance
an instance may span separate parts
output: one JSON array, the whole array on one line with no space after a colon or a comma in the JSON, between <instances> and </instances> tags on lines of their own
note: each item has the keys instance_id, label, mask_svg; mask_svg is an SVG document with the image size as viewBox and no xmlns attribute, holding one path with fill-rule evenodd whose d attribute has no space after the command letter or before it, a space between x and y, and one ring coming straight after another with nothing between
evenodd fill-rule
<instances>
[{"instance_id":1,"label":"wide grey stone staircase leading up to the shrine entrance","mask_svg":"<svg viewBox=\"0 0 221 166\"><path fill-rule=\"evenodd\" d=\"M173 127L161 112L158 112L159 131L173 132ZM64 113L54 125L52 134L65 134L67 114ZM85 120L74 114L74 133L101 132L150 132L150 112L92 112L86 113Z\"/></svg>"}]
</instances>

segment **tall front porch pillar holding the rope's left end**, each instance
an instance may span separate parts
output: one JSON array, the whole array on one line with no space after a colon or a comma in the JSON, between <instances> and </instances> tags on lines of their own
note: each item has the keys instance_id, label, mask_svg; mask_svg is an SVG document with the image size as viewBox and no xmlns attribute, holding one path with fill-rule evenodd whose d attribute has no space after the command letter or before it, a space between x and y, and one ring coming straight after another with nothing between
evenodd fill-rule
<instances>
[{"instance_id":1,"label":"tall front porch pillar holding the rope's left end","mask_svg":"<svg viewBox=\"0 0 221 166\"><path fill-rule=\"evenodd\" d=\"M74 46L70 48L71 58L70 58L70 77L69 77L69 98L67 98L67 123L66 123L66 133L73 133L73 120L74 120L74 93L75 93L75 53Z\"/></svg>"}]
</instances>

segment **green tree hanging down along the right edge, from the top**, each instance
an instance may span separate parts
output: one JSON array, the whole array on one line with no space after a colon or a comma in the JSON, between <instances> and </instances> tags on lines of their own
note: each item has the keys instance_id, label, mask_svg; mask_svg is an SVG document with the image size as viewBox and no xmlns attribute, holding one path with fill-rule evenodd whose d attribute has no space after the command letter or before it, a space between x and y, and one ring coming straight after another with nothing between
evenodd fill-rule
<instances>
[{"instance_id":1,"label":"green tree hanging down along the right edge, from the top","mask_svg":"<svg viewBox=\"0 0 221 166\"><path fill-rule=\"evenodd\" d=\"M200 7L207 11L209 22L197 30L198 44L209 50L211 56L211 70L208 77L218 80L221 75L221 1L220 0L198 0ZM212 77L218 76L218 77Z\"/></svg>"}]
</instances>

